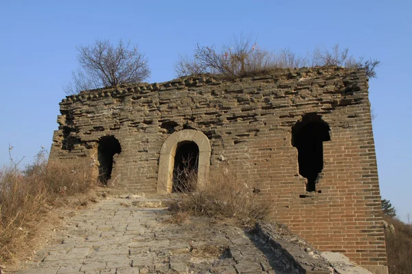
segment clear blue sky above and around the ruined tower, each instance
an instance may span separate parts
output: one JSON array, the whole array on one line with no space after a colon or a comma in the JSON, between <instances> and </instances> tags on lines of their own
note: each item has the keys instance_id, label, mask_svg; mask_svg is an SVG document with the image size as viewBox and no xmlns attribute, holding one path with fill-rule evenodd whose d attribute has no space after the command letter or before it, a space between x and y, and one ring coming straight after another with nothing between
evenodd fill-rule
<instances>
[{"instance_id":1,"label":"clear blue sky above and around the ruined tower","mask_svg":"<svg viewBox=\"0 0 412 274\"><path fill-rule=\"evenodd\" d=\"M227 42L241 32L265 49L348 47L376 58L369 92L381 195L412 214L412 1L23 1L0 0L0 164L34 158L58 128L62 85L77 69L76 45L119 38L146 53L148 82L176 77L179 54Z\"/></svg>"}]
</instances>

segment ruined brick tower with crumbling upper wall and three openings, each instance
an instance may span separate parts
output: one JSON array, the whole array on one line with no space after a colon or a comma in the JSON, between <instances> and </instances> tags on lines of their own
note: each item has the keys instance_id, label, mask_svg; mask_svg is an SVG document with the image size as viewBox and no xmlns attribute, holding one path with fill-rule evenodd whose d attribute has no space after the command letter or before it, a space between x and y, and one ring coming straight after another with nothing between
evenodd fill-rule
<instances>
[{"instance_id":1,"label":"ruined brick tower with crumbling upper wall and three openings","mask_svg":"<svg viewBox=\"0 0 412 274\"><path fill-rule=\"evenodd\" d=\"M90 90L60 103L50 159L90 158L102 182L152 193L175 191L185 155L198 184L231 166L273 201L271 218L385 273L367 88L363 70L317 67Z\"/></svg>"}]
</instances>

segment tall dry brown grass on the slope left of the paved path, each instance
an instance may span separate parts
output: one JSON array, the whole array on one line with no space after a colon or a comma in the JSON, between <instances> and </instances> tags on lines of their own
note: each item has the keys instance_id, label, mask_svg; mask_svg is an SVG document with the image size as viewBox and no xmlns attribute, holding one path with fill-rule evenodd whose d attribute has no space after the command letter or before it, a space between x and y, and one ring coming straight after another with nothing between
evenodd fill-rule
<instances>
[{"instance_id":1,"label":"tall dry brown grass on the slope left of the paved path","mask_svg":"<svg viewBox=\"0 0 412 274\"><path fill-rule=\"evenodd\" d=\"M0 262L27 247L38 220L62 204L62 197L86 192L93 183L91 174L90 163L48 163L44 151L24 171L10 158L0 169ZM85 205L87 201L78 201L78 206Z\"/></svg>"}]
</instances>

